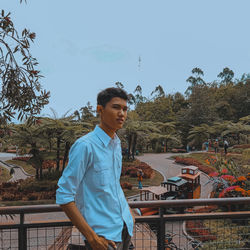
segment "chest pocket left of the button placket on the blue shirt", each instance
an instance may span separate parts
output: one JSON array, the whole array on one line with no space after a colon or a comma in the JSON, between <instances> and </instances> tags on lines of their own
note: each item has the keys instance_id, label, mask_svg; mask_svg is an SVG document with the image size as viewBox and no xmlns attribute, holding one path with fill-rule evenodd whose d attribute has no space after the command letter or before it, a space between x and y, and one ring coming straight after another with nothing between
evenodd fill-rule
<instances>
[{"instance_id":1,"label":"chest pocket left of the button placket on the blue shirt","mask_svg":"<svg viewBox=\"0 0 250 250\"><path fill-rule=\"evenodd\" d=\"M103 162L98 162L94 166L97 186L107 186L110 182L110 166Z\"/></svg>"}]
</instances>

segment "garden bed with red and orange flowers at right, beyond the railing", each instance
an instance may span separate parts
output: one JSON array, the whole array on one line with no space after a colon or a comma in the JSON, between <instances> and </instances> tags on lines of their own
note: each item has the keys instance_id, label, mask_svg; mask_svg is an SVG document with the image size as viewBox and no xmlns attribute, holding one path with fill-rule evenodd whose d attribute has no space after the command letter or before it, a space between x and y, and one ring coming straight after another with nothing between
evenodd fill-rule
<instances>
[{"instance_id":1,"label":"garden bed with red and orange flowers at right, beyond the railing","mask_svg":"<svg viewBox=\"0 0 250 250\"><path fill-rule=\"evenodd\" d=\"M237 152L236 152L237 151ZM227 155L213 152L192 153L186 156L176 156L175 161L184 165L197 166L209 176L213 185L211 198L249 197L250 196L250 145L236 145ZM209 213L219 211L248 211L250 206L207 206L189 209L189 213ZM240 224L239 224L240 223ZM249 222L246 222L249 224ZM227 219L220 221L187 221L186 228L189 235L203 242L204 249L217 249L220 239L223 248L234 249L249 247L241 241L241 235L246 235L250 225L242 225L242 221ZM228 228L228 229L225 229ZM233 235L233 236L232 236ZM233 238L232 238L233 237ZM225 244L225 238L228 238ZM216 244L211 246L211 242Z\"/></svg>"}]
</instances>

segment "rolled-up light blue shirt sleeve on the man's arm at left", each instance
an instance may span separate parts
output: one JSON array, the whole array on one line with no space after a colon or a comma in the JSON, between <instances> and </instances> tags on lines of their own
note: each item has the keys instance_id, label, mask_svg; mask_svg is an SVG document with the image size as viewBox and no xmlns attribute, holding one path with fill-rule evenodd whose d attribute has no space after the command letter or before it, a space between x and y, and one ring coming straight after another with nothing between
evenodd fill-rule
<instances>
[{"instance_id":1,"label":"rolled-up light blue shirt sleeve on the man's arm at left","mask_svg":"<svg viewBox=\"0 0 250 250\"><path fill-rule=\"evenodd\" d=\"M69 163L59 179L56 203L67 204L75 201L77 188L90 164L90 146L85 141L76 141L69 152Z\"/></svg>"}]
</instances>

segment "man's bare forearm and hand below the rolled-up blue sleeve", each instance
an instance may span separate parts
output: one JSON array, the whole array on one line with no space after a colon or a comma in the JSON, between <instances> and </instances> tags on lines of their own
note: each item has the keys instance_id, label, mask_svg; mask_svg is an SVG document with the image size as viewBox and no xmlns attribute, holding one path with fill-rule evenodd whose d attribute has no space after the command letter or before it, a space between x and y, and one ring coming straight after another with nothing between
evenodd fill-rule
<instances>
[{"instance_id":1,"label":"man's bare forearm and hand below the rolled-up blue sleeve","mask_svg":"<svg viewBox=\"0 0 250 250\"><path fill-rule=\"evenodd\" d=\"M75 202L70 202L61 205L62 210L69 217L74 226L85 236L93 250L106 250L110 244L116 248L113 241L107 240L104 237L99 237L94 230L89 226L84 217L78 210Z\"/></svg>"}]
</instances>

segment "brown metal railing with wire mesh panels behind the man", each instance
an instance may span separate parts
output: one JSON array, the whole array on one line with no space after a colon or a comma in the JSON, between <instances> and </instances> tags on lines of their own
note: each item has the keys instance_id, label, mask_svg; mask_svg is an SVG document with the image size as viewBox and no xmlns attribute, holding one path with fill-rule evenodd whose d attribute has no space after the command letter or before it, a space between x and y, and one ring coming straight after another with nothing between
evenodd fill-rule
<instances>
[{"instance_id":1,"label":"brown metal railing with wire mesh panels behind the man","mask_svg":"<svg viewBox=\"0 0 250 250\"><path fill-rule=\"evenodd\" d=\"M129 205L159 209L157 215L136 216L131 249L250 249L250 198ZM220 209L211 213L192 213L190 209L187 212L187 208L210 205ZM1 207L0 249L84 249L79 232L59 212L58 205ZM32 219L34 214L36 218Z\"/></svg>"}]
</instances>

